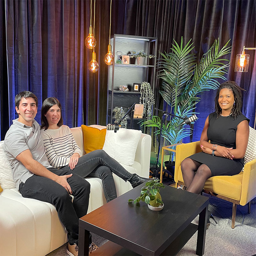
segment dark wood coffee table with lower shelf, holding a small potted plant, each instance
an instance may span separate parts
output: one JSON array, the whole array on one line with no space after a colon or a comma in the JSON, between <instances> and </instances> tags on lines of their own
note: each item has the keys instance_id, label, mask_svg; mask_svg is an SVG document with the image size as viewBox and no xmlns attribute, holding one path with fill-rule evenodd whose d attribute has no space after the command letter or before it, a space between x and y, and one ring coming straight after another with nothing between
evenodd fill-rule
<instances>
[{"instance_id":1,"label":"dark wood coffee table with lower shelf, holding a small potted plant","mask_svg":"<svg viewBox=\"0 0 256 256\"><path fill-rule=\"evenodd\" d=\"M144 184L79 219L78 255L89 255L89 231L109 240L93 255L176 255L198 230L196 254L204 254L209 198L165 186L160 190L164 209L128 204ZM199 214L198 226L191 221Z\"/></svg>"}]
</instances>

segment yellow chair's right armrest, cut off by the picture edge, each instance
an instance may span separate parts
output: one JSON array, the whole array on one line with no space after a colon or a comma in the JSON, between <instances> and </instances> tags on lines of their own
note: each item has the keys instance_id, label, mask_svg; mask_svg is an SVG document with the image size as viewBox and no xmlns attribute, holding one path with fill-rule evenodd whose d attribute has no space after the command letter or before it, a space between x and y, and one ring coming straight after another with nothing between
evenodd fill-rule
<instances>
[{"instance_id":1,"label":"yellow chair's right armrest, cut off by the picture edge","mask_svg":"<svg viewBox=\"0 0 256 256\"><path fill-rule=\"evenodd\" d=\"M240 204L245 205L256 196L256 159L244 165Z\"/></svg>"}]
</instances>

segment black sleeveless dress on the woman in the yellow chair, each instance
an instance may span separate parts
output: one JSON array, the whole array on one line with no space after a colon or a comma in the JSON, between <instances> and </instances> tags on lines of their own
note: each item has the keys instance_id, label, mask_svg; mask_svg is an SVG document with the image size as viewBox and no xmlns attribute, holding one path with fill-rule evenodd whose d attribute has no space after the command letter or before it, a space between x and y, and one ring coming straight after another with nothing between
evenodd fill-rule
<instances>
[{"instance_id":1,"label":"black sleeveless dress on the woman in the yellow chair","mask_svg":"<svg viewBox=\"0 0 256 256\"><path fill-rule=\"evenodd\" d=\"M212 144L236 149L237 125L244 120L250 121L242 114L234 120L232 115L217 118L216 112L211 113L209 115L209 127L207 129L208 140ZM244 167L244 158L231 160L225 157L212 156L204 152L196 153L189 156L189 158L206 164L210 168L212 176L235 175L241 172Z\"/></svg>"}]
</instances>

